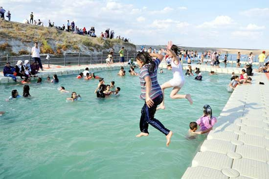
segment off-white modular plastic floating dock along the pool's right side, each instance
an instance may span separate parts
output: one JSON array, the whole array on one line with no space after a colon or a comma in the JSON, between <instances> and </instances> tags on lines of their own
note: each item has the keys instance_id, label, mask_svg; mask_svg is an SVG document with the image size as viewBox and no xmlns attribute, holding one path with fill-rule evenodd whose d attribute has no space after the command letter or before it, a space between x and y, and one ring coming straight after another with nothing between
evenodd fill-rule
<instances>
[{"instance_id":1,"label":"off-white modular plastic floating dock along the pool's right side","mask_svg":"<svg viewBox=\"0 0 269 179\"><path fill-rule=\"evenodd\" d=\"M269 80L251 78L233 91L182 179L269 179Z\"/></svg>"}]
</instances>

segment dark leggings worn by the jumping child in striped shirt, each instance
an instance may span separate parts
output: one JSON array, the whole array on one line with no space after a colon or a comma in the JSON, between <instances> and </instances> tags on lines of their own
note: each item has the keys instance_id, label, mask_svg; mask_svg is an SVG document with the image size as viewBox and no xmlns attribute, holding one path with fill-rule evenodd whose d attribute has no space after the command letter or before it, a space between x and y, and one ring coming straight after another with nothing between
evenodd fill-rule
<instances>
[{"instance_id":1,"label":"dark leggings worn by the jumping child in striped shirt","mask_svg":"<svg viewBox=\"0 0 269 179\"><path fill-rule=\"evenodd\" d=\"M143 133L148 133L149 124L159 130L161 133L167 135L170 131L166 129L160 121L154 118L154 114L156 112L157 106L162 102L163 96L162 94L153 99L154 105L152 107L148 107L146 102L141 110L140 117L140 131Z\"/></svg>"}]
</instances>

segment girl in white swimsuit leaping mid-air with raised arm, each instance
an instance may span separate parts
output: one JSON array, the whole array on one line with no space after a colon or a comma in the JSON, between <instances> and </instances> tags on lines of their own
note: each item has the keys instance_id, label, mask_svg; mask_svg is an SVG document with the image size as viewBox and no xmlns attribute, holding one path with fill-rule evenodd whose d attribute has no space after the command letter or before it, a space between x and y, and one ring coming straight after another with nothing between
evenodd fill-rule
<instances>
[{"instance_id":1,"label":"girl in white swimsuit leaping mid-air with raised arm","mask_svg":"<svg viewBox=\"0 0 269 179\"><path fill-rule=\"evenodd\" d=\"M172 99L181 99L185 98L187 99L190 104L193 103L191 95L190 94L178 94L179 90L183 87L185 79L184 79L184 74L182 71L182 66L179 61L178 55L179 55L179 47L177 45L173 45L172 41L168 42L167 45L167 53L168 55L173 56L173 59L171 61L171 66L172 66L172 71L173 71L173 79L169 80L168 82L165 82L164 84L161 85L161 90L163 93L163 101L160 104L159 107L157 107L157 110L165 109L164 106L164 90L167 88L172 88L173 90L170 93L170 97Z\"/></svg>"}]
</instances>

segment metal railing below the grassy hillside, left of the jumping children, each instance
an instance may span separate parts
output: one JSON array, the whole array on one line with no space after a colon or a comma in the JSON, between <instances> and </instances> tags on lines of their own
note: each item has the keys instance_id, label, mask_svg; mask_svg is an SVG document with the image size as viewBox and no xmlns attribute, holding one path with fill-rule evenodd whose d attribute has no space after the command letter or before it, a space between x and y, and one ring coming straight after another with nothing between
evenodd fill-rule
<instances>
[{"instance_id":1,"label":"metal railing below the grassy hillside, left of the jumping children","mask_svg":"<svg viewBox=\"0 0 269 179\"><path fill-rule=\"evenodd\" d=\"M47 60L47 55L50 56L50 59ZM58 65L58 66L73 66L73 65L92 65L92 64L103 64L106 63L108 57L108 52L100 53L65 53L62 55L52 55L52 54L41 54L40 59L42 65ZM125 62L128 62L131 58L135 59L136 53L125 52L124 58ZM21 56L2 56L0 57L0 70L3 69L6 62L10 62L11 66L15 66L19 60L22 60L23 63L25 60L32 60L31 54L21 55ZM118 53L113 54L113 62L120 62L120 56Z\"/></svg>"}]
</instances>

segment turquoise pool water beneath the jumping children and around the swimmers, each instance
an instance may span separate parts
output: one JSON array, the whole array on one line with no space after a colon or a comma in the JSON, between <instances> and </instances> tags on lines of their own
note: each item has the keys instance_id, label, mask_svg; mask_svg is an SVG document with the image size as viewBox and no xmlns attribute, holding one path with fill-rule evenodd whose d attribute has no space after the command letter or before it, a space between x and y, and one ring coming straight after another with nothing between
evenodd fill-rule
<instances>
[{"instance_id":1,"label":"turquoise pool water beneath the jumping children and around the swimmers","mask_svg":"<svg viewBox=\"0 0 269 179\"><path fill-rule=\"evenodd\" d=\"M143 101L139 78L119 77L118 71L96 73L106 83L121 87L120 97L97 99L98 80L59 77L59 84L30 84L32 98L5 102L11 90L22 94L22 85L0 85L0 179L179 179L206 136L190 139L188 124L202 115L209 104L213 115L222 111L230 93L226 91L230 75L209 76L203 81L186 78L180 93L190 93L187 100L167 98L166 110L156 118L174 135L169 147L165 135L149 127L150 135L139 133ZM159 83L169 80L171 71L158 74ZM45 80L45 79L43 79ZM66 102L70 94L58 86L81 94L82 101Z\"/></svg>"}]
</instances>

